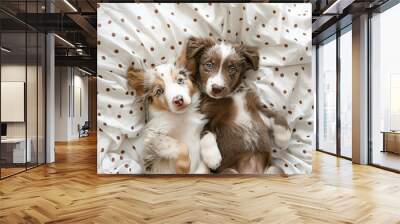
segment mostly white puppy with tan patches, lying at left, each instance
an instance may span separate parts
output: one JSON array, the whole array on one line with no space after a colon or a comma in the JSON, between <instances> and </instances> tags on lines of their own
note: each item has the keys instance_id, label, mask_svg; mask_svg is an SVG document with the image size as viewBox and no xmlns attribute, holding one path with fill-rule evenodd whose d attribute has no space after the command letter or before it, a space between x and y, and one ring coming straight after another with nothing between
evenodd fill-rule
<instances>
[{"instance_id":1,"label":"mostly white puppy with tan patches, lying at left","mask_svg":"<svg viewBox=\"0 0 400 224\"><path fill-rule=\"evenodd\" d=\"M163 64L147 71L130 68L128 80L148 102L142 155L146 173L207 174L209 168L219 166L215 138L213 142L204 136L200 142L207 120L199 112L200 92L184 66Z\"/></svg>"}]
</instances>

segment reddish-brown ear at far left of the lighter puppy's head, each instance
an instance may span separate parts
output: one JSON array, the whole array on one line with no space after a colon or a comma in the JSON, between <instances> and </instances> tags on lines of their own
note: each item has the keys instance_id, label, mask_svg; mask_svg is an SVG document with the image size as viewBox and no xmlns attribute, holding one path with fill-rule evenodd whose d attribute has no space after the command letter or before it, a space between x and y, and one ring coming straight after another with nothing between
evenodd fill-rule
<instances>
[{"instance_id":1,"label":"reddish-brown ear at far left of the lighter puppy's head","mask_svg":"<svg viewBox=\"0 0 400 224\"><path fill-rule=\"evenodd\" d=\"M152 74L146 73L144 70L129 67L128 84L135 89L138 96L144 96L151 88Z\"/></svg>"}]
</instances>

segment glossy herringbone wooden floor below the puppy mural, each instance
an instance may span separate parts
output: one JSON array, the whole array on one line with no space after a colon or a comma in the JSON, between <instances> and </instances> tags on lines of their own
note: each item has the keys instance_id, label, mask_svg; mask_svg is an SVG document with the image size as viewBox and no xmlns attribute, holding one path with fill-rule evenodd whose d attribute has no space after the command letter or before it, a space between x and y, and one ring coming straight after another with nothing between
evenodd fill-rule
<instances>
[{"instance_id":1,"label":"glossy herringbone wooden floor below the puppy mural","mask_svg":"<svg viewBox=\"0 0 400 224\"><path fill-rule=\"evenodd\" d=\"M0 223L400 223L400 175L315 154L310 176L98 176L96 141L0 181Z\"/></svg>"}]
</instances>

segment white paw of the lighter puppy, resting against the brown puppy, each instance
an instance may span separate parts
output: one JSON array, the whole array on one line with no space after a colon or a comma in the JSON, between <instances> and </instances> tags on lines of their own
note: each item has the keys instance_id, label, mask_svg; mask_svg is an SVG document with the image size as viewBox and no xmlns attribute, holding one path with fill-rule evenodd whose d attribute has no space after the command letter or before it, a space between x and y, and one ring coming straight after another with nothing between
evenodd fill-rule
<instances>
[{"instance_id":1,"label":"white paw of the lighter puppy, resting against the brown puppy","mask_svg":"<svg viewBox=\"0 0 400 224\"><path fill-rule=\"evenodd\" d=\"M219 151L215 135L208 132L200 140L200 150L203 162L210 169L217 169L221 165L221 153Z\"/></svg>"}]
</instances>

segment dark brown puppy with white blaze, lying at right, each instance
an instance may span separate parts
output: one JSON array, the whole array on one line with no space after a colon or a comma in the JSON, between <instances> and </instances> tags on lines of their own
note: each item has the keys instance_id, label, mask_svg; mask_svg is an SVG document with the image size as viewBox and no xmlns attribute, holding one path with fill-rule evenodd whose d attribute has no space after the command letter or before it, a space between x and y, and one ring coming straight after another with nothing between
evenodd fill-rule
<instances>
[{"instance_id":1,"label":"dark brown puppy with white blaze, lying at right","mask_svg":"<svg viewBox=\"0 0 400 224\"><path fill-rule=\"evenodd\" d=\"M203 139L216 140L222 155L217 172L264 173L272 145L287 148L291 132L285 118L264 108L242 82L245 72L258 70L257 49L191 37L186 56L203 93L201 111L208 119Z\"/></svg>"}]
</instances>

